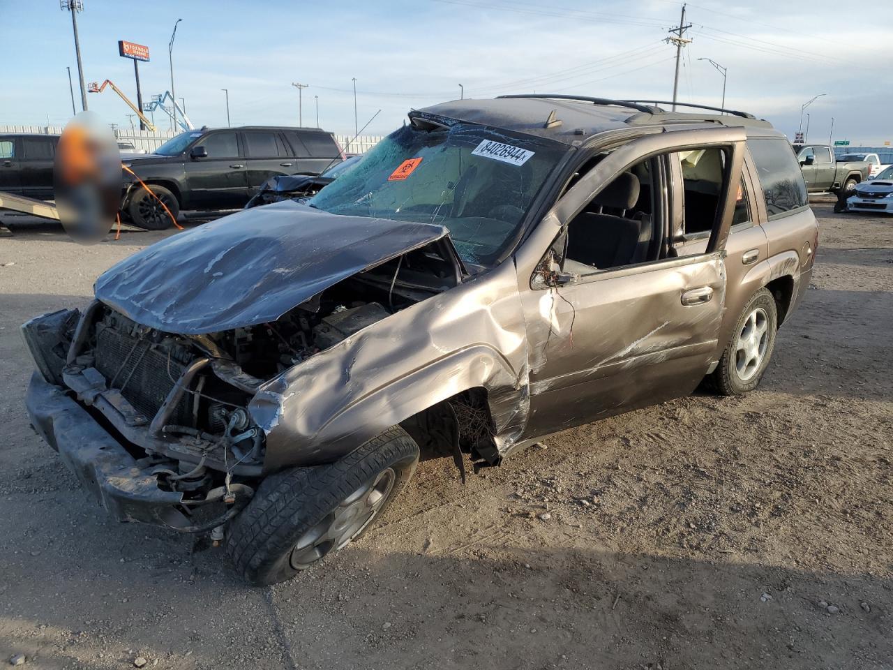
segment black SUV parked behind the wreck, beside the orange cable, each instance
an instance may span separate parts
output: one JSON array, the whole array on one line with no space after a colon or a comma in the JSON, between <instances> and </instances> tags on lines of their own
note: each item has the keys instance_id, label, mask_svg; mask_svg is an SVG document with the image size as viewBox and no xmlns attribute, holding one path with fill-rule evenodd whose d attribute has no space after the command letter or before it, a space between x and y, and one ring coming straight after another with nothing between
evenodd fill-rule
<instances>
[{"instance_id":1,"label":"black SUV parked behind the wreck, beside the orange cable","mask_svg":"<svg viewBox=\"0 0 893 670\"><path fill-rule=\"evenodd\" d=\"M237 209L271 177L319 174L342 157L338 142L325 130L243 126L189 130L124 165L176 217L187 209ZM124 181L121 211L134 224L148 230L171 226L171 216L133 175L125 171Z\"/></svg>"}]
</instances>

